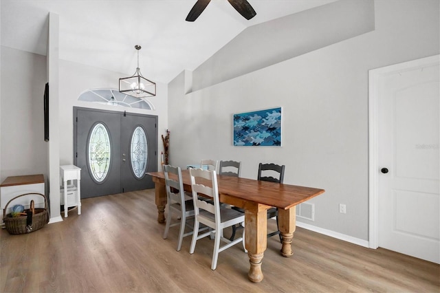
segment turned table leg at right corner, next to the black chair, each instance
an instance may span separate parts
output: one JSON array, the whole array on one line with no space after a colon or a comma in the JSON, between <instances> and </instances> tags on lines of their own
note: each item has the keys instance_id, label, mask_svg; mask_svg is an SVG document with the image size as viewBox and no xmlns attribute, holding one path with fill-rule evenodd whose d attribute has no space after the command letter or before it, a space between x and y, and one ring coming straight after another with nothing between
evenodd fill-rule
<instances>
[{"instance_id":1,"label":"turned table leg at right corner, next to the black chair","mask_svg":"<svg viewBox=\"0 0 440 293\"><path fill-rule=\"evenodd\" d=\"M294 254L292 251L292 239L296 229L296 206L288 210L278 209L278 228L283 237L281 255L283 257L291 257Z\"/></svg>"}]
</instances>

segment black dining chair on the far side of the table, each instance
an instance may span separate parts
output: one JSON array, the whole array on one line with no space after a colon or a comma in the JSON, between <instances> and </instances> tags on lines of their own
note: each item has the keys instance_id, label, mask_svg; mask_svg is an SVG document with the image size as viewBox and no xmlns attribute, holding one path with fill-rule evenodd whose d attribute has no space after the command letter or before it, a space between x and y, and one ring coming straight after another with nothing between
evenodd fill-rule
<instances>
[{"instance_id":1,"label":"black dining chair on the far side of the table","mask_svg":"<svg viewBox=\"0 0 440 293\"><path fill-rule=\"evenodd\" d=\"M259 181L269 181L269 182L276 182L276 183L283 183L284 181L284 171L285 171L285 165L277 165L277 164L259 164L259 173L257 175L257 180ZM274 177L275 176L275 177ZM236 206L232 206L232 209L238 210L241 213L244 213L245 210L243 208L237 208ZM280 241L283 241L283 238L281 237L280 229L278 228L278 208L270 208L267 210L267 219L272 219L275 217L276 219L276 227L277 230L274 232L267 233L267 237L272 237L275 235L278 235L280 237ZM230 237L230 240L234 240L235 232L237 230L236 226L232 226L232 235Z\"/></svg>"}]
</instances>

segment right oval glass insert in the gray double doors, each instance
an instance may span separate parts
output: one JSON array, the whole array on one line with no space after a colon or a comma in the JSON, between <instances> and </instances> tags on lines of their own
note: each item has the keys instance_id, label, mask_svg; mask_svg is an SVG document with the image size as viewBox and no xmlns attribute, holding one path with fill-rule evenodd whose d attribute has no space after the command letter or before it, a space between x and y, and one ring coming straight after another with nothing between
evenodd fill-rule
<instances>
[{"instance_id":1,"label":"right oval glass insert in the gray double doors","mask_svg":"<svg viewBox=\"0 0 440 293\"><path fill-rule=\"evenodd\" d=\"M148 156L148 145L146 143L146 134L142 127L138 126L131 136L131 169L137 179L145 175L146 160Z\"/></svg>"}]
</instances>

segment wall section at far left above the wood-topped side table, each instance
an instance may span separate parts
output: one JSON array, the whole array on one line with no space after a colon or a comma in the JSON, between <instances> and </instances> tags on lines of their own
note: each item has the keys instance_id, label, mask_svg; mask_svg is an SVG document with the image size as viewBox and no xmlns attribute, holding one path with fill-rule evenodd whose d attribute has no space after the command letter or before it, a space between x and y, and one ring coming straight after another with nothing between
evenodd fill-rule
<instances>
[{"instance_id":1,"label":"wall section at far left above the wood-topped side table","mask_svg":"<svg viewBox=\"0 0 440 293\"><path fill-rule=\"evenodd\" d=\"M46 57L1 46L0 180L43 174L47 179L43 95Z\"/></svg>"}]
</instances>

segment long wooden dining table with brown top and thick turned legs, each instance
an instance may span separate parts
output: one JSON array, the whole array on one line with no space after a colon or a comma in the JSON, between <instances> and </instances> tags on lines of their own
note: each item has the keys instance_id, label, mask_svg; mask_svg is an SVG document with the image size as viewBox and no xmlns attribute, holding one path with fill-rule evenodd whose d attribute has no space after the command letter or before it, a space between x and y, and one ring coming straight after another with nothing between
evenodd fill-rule
<instances>
[{"instance_id":1,"label":"long wooden dining table with brown top and thick turned legs","mask_svg":"<svg viewBox=\"0 0 440 293\"><path fill-rule=\"evenodd\" d=\"M163 172L147 173L155 182L157 221L165 222L165 176ZM185 191L191 192L190 174L182 171ZM263 280L261 263L267 248L267 210L278 208L278 228L282 236L281 254L291 257L296 228L296 205L325 192L324 189L218 175L220 202L245 210L245 248L248 250L250 281Z\"/></svg>"}]
</instances>

